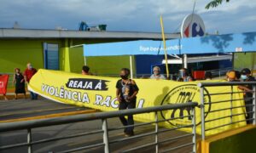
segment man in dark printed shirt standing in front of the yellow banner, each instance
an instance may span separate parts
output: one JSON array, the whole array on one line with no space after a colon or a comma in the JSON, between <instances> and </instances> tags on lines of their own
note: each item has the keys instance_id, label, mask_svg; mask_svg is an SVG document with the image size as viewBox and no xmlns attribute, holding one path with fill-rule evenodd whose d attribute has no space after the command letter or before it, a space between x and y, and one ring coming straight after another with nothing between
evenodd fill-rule
<instances>
[{"instance_id":1,"label":"man in dark printed shirt standing in front of the yellow banner","mask_svg":"<svg viewBox=\"0 0 256 153\"><path fill-rule=\"evenodd\" d=\"M119 110L134 109L136 107L136 95L138 93L138 88L136 82L129 79L130 70L123 68L120 71L120 77L118 82L116 82L116 97L119 100ZM128 120L125 116L119 116L120 121L124 126L130 126L134 124L133 116L128 116ZM134 127L125 127L125 136L134 135Z\"/></svg>"}]
</instances>

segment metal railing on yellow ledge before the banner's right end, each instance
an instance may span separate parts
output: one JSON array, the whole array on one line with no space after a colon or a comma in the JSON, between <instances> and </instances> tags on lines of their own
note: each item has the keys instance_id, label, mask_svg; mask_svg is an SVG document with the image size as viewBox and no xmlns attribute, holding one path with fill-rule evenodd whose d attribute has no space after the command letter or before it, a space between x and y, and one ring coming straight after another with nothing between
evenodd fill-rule
<instances>
[{"instance_id":1,"label":"metal railing on yellow ledge before the banner's right end","mask_svg":"<svg viewBox=\"0 0 256 153\"><path fill-rule=\"evenodd\" d=\"M211 87L230 87L230 92L226 93L208 93L206 91L207 88ZM247 123L253 123L255 125L256 123L256 82L201 82L198 84L198 87L201 88L201 138L204 140L206 139L206 133L220 127L226 127L230 125L234 125L239 122L247 122ZM247 87L250 88L251 91L246 90L237 90L234 91L234 88L242 88ZM236 98L234 99L235 94L243 94L248 96L243 96L242 98ZM206 101L207 96L219 96L224 95L225 98L230 97L230 99L220 99L218 101ZM245 105L237 105L236 102L244 100ZM227 108L221 108L216 110L206 110L206 107L209 107L209 105L216 105L216 104L223 104L223 103L230 103L230 107ZM248 104L249 103L249 104ZM246 108L245 112L236 113L234 114L233 111L239 108ZM229 111L230 113L227 115L218 116L217 118L208 119L206 120L206 115L209 115L213 112L221 112L221 111ZM247 116L245 120L238 120L233 121L234 117L237 116ZM218 122L218 124L214 124L214 127L208 127L206 126L207 123L220 121L222 119L230 118L230 122L224 123L224 122Z\"/></svg>"}]
</instances>

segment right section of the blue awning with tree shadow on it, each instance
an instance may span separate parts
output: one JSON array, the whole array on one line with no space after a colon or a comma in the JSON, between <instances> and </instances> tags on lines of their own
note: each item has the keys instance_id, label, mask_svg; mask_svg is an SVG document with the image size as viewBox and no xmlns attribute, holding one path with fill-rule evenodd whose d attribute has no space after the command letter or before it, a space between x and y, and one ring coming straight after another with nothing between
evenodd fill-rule
<instances>
[{"instance_id":1,"label":"right section of the blue awning with tree shadow on it","mask_svg":"<svg viewBox=\"0 0 256 153\"><path fill-rule=\"evenodd\" d=\"M254 52L256 51L255 41L256 32L183 38L180 40L183 46L181 54Z\"/></svg>"}]
</instances>

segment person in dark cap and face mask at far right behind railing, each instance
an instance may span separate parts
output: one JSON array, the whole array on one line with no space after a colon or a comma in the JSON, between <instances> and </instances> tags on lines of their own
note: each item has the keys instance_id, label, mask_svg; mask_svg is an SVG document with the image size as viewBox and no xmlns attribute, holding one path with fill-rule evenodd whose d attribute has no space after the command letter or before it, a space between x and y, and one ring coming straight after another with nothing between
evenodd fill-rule
<instances>
[{"instance_id":1,"label":"person in dark cap and face mask at far right behind railing","mask_svg":"<svg viewBox=\"0 0 256 153\"><path fill-rule=\"evenodd\" d=\"M251 71L247 68L244 68L241 70L241 81L243 82L254 82L255 78L251 76ZM244 94L244 99L245 99L245 105L253 105L253 86L252 85L246 85L246 86L239 86L242 90L246 92ZM253 118L253 113L248 113L253 111L252 106L246 107L247 111L247 119L252 119ZM247 124L253 123L253 120L247 120Z\"/></svg>"}]
</instances>

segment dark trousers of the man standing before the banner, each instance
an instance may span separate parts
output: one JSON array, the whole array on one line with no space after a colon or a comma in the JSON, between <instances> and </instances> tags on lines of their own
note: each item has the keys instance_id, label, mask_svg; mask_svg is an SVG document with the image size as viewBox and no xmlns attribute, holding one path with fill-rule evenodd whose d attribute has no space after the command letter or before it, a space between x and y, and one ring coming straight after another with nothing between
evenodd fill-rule
<instances>
[{"instance_id":1,"label":"dark trousers of the man standing before the banner","mask_svg":"<svg viewBox=\"0 0 256 153\"><path fill-rule=\"evenodd\" d=\"M136 102L119 102L119 110L133 109L136 106ZM124 126L134 125L133 116L130 115L126 119L125 116L119 116L120 121ZM132 134L134 127L125 127L125 133Z\"/></svg>"}]
</instances>

